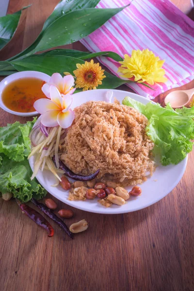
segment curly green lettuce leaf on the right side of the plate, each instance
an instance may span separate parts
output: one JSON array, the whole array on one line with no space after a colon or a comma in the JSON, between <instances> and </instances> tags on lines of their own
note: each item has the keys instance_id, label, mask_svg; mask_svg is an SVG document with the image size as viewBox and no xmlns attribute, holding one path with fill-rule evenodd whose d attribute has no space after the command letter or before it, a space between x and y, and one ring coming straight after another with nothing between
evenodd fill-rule
<instances>
[{"instance_id":1,"label":"curly green lettuce leaf on the right side of the plate","mask_svg":"<svg viewBox=\"0 0 194 291\"><path fill-rule=\"evenodd\" d=\"M151 102L144 105L130 97L125 97L123 104L147 117L147 135L154 142L153 152L160 155L162 165L178 164L192 151L194 107L174 110L170 104L165 108Z\"/></svg>"}]
</instances>

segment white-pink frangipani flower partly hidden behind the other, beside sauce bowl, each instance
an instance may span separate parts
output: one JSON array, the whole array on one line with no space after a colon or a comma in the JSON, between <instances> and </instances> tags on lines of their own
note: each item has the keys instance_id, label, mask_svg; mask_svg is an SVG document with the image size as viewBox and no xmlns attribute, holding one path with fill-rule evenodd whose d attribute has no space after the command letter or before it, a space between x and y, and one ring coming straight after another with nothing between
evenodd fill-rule
<instances>
[{"instance_id":1,"label":"white-pink frangipani flower partly hidden behind the other, beside sauce bowl","mask_svg":"<svg viewBox=\"0 0 194 291\"><path fill-rule=\"evenodd\" d=\"M42 86L43 93L50 99L49 87L55 86L61 94L73 94L76 88L73 88L74 78L72 75L65 76L64 78L59 73L54 73L50 77L49 83Z\"/></svg>"}]
</instances>

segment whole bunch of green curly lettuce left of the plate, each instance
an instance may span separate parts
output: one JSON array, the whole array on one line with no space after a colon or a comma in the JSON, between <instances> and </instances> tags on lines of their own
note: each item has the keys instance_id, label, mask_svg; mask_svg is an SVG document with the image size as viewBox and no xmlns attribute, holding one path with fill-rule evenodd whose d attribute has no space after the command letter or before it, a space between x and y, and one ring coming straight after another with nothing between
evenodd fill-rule
<instances>
[{"instance_id":1,"label":"whole bunch of green curly lettuce left of the plate","mask_svg":"<svg viewBox=\"0 0 194 291\"><path fill-rule=\"evenodd\" d=\"M34 178L27 156L31 152L30 131L36 119L0 128L0 193L13 193L22 202L41 199L46 190Z\"/></svg>"}]
</instances>

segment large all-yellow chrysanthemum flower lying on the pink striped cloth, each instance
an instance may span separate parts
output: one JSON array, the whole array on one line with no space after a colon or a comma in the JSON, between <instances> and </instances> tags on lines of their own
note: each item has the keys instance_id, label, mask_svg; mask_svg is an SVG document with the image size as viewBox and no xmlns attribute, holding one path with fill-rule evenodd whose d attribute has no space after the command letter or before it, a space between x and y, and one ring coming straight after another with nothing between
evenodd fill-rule
<instances>
[{"instance_id":1,"label":"large all-yellow chrysanthemum flower lying on the pink striped cloth","mask_svg":"<svg viewBox=\"0 0 194 291\"><path fill-rule=\"evenodd\" d=\"M118 71L122 73L121 77L135 77L135 81L139 83L146 81L150 85L153 85L154 82L167 81L167 78L164 77L165 70L162 69L164 61L148 49L132 50L131 57L125 54L124 60L119 63L122 64L118 68Z\"/></svg>"}]
</instances>

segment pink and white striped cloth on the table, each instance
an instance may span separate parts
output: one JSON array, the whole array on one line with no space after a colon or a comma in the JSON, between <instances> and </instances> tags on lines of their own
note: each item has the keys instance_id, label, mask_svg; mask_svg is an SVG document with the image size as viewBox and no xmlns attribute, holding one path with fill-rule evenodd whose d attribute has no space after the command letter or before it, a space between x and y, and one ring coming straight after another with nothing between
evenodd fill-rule
<instances>
[{"instance_id":1,"label":"pink and white striped cloth on the table","mask_svg":"<svg viewBox=\"0 0 194 291\"><path fill-rule=\"evenodd\" d=\"M122 7L130 0L101 0L97 8ZM134 0L129 7L81 40L90 51L111 50L124 57L132 49L149 49L165 60L168 81L152 86L129 84L136 93L150 99L194 79L194 22L169 0ZM118 75L119 64L110 58L99 61Z\"/></svg>"}]
</instances>

